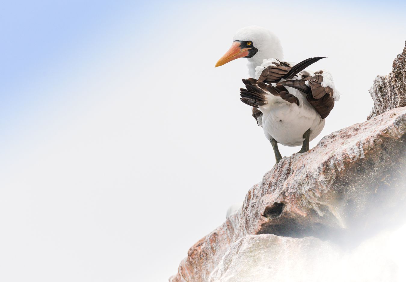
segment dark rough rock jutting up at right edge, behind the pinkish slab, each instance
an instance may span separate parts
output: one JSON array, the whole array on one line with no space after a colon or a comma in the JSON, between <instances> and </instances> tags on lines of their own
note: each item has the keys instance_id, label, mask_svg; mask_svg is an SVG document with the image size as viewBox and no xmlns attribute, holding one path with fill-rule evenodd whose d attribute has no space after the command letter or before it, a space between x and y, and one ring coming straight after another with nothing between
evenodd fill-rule
<instances>
[{"instance_id":1,"label":"dark rough rock jutting up at right edge, behind the pinkish slab","mask_svg":"<svg viewBox=\"0 0 406 282\"><path fill-rule=\"evenodd\" d=\"M406 47L393 61L392 72L387 76L377 76L369 89L374 108L368 119L393 108L406 106Z\"/></svg>"}]
</instances>

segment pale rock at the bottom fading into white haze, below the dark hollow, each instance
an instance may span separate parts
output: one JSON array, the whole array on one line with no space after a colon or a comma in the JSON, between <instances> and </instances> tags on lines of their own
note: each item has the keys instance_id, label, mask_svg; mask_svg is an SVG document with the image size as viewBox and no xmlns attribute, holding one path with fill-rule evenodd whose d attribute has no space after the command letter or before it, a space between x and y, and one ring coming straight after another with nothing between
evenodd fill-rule
<instances>
[{"instance_id":1,"label":"pale rock at the bottom fading into white haze, below the dark hollow","mask_svg":"<svg viewBox=\"0 0 406 282\"><path fill-rule=\"evenodd\" d=\"M230 247L208 282L404 281L404 232L384 232L351 250L314 237L247 235Z\"/></svg>"}]
</instances>

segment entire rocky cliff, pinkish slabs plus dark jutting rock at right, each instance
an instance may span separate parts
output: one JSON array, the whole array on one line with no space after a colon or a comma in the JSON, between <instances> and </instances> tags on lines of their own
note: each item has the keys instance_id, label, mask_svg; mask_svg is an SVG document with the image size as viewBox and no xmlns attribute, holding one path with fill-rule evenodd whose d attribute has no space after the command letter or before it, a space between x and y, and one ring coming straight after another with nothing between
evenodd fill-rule
<instances>
[{"instance_id":1,"label":"entire rocky cliff, pinkish slabs plus dark jutting rock at right","mask_svg":"<svg viewBox=\"0 0 406 282\"><path fill-rule=\"evenodd\" d=\"M283 273L277 274L281 268L265 257L283 259L286 244L303 256L312 249L317 260L325 261L317 249L341 254L337 249L342 246L357 246L402 221L405 58L406 48L393 72L374 81L370 93L375 105L367 121L333 132L305 154L284 157L248 191L237 213L189 249L170 281L262 281L255 275L269 280ZM241 261L252 260L263 267L245 280L247 276L236 275L246 267Z\"/></svg>"}]
</instances>

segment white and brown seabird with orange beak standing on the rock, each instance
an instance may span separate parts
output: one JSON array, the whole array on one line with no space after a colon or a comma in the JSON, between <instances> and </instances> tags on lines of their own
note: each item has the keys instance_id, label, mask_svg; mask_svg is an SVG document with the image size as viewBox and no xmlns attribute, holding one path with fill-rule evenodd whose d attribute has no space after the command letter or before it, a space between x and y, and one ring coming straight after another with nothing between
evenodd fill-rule
<instances>
[{"instance_id":1,"label":"white and brown seabird with orange beak standing on the rock","mask_svg":"<svg viewBox=\"0 0 406 282\"><path fill-rule=\"evenodd\" d=\"M304 71L324 57L298 64L281 61L283 50L276 35L266 28L248 26L234 35L231 48L216 67L238 58L248 58L251 77L243 79L246 88L240 89L240 100L253 106L253 117L271 142L276 163L282 158L278 143L302 145L298 153L309 151L309 141L320 134L340 98L329 72Z\"/></svg>"}]
</instances>

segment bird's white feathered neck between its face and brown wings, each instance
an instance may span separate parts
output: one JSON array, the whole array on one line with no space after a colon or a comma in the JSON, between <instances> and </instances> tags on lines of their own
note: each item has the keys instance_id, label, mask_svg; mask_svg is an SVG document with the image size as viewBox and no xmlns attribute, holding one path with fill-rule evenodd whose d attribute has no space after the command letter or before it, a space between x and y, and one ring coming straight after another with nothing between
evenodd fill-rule
<instances>
[{"instance_id":1,"label":"bird's white feathered neck between its face and brown wings","mask_svg":"<svg viewBox=\"0 0 406 282\"><path fill-rule=\"evenodd\" d=\"M266 43L267 48L261 48L252 58L248 58L248 73L250 77L255 77L255 67L261 65L262 61L265 59L279 59L283 60L283 49L281 41L278 37L272 36L273 38Z\"/></svg>"}]
</instances>

